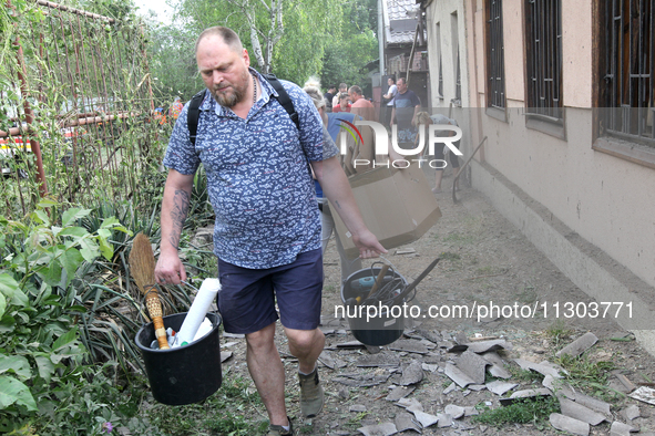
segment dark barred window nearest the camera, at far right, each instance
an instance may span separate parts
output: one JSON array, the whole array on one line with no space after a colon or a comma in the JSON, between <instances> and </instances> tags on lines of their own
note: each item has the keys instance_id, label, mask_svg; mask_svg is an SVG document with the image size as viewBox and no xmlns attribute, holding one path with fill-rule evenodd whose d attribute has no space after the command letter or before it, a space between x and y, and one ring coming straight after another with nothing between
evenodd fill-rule
<instances>
[{"instance_id":1,"label":"dark barred window nearest the camera, at far right","mask_svg":"<svg viewBox=\"0 0 655 436\"><path fill-rule=\"evenodd\" d=\"M605 134L655 146L655 0L602 3Z\"/></svg>"}]
</instances>

